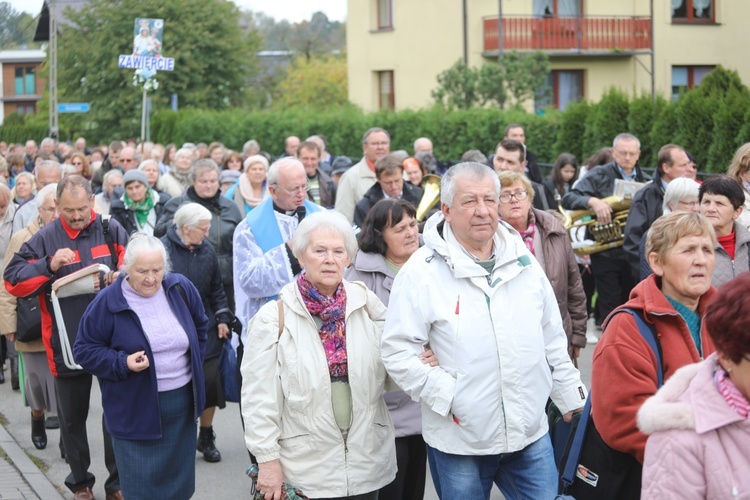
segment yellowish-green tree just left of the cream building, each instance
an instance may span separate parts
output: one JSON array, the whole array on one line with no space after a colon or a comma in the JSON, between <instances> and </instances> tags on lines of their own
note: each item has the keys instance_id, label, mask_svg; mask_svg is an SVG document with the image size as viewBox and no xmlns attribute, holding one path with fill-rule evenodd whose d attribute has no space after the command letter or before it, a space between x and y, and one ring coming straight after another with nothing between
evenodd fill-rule
<instances>
[{"instance_id":1,"label":"yellowish-green tree just left of the cream building","mask_svg":"<svg viewBox=\"0 0 750 500\"><path fill-rule=\"evenodd\" d=\"M274 107L326 108L347 102L346 58L298 57L279 83Z\"/></svg>"}]
</instances>

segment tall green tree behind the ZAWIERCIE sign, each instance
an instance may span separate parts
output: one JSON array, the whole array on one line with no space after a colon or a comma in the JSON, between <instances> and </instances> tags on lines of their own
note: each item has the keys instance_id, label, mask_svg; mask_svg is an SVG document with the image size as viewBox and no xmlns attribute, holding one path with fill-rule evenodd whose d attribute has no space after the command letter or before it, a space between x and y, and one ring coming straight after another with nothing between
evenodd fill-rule
<instances>
[{"instance_id":1,"label":"tall green tree behind the ZAWIERCIE sign","mask_svg":"<svg viewBox=\"0 0 750 500\"><path fill-rule=\"evenodd\" d=\"M58 100L91 103L90 136L109 140L136 136L141 89L132 69L118 68L118 55L133 47L136 17L164 19L162 54L174 71L160 71L154 109L177 94L180 107L223 109L245 103L247 78L257 72L260 39L243 34L239 11L223 0L91 0L65 15L58 48Z\"/></svg>"}]
</instances>

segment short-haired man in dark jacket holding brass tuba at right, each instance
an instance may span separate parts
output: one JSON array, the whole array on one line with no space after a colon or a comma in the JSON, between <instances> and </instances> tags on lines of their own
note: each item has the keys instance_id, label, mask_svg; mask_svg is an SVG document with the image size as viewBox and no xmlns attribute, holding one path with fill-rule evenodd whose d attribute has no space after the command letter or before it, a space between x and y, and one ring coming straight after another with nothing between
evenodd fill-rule
<instances>
[{"instance_id":1,"label":"short-haired man in dark jacket holding brass tuba at right","mask_svg":"<svg viewBox=\"0 0 750 500\"><path fill-rule=\"evenodd\" d=\"M638 166L640 155L641 142L638 138L627 133L619 134L612 144L614 160L586 174L563 196L563 208L591 209L596 213L597 224L609 224L612 220L612 207L604 198L614 193L615 180L646 182L649 179ZM592 254L591 272L599 293L596 307L597 324L600 324L616 307L627 302L636 282L622 247Z\"/></svg>"}]
</instances>

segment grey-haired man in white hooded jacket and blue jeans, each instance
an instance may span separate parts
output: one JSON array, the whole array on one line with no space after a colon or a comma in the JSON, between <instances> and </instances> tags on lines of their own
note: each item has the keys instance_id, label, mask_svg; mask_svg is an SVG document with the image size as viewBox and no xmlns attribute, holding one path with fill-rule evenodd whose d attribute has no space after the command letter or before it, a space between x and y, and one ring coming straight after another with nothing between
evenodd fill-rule
<instances>
[{"instance_id":1,"label":"grey-haired man in white hooded jacket and blue jeans","mask_svg":"<svg viewBox=\"0 0 750 500\"><path fill-rule=\"evenodd\" d=\"M383 361L422 404L440 498L488 499L493 482L507 498L554 498L545 403L569 420L586 399L554 292L518 233L498 223L490 168L456 165L441 188L442 213L396 276ZM440 366L417 357L425 344Z\"/></svg>"}]
</instances>

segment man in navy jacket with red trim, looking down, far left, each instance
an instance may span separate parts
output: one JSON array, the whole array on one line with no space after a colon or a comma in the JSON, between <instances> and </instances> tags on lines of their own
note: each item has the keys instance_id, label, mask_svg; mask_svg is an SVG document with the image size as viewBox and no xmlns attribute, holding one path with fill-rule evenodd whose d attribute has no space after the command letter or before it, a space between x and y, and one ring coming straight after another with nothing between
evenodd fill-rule
<instances>
[{"instance_id":1,"label":"man in navy jacket with red trim, looking down, far left","mask_svg":"<svg viewBox=\"0 0 750 500\"><path fill-rule=\"evenodd\" d=\"M65 485L77 499L93 499L91 488L95 477L89 472L91 454L86 434L92 376L66 363L60 335L75 343L78 322L95 294L81 294L60 299L65 328L60 329L53 311L52 284L84 267L105 264L116 270L122 263L128 236L117 221L106 228L94 212L94 195L89 181L80 175L69 175L57 184L57 206L60 218L39 230L13 256L5 268L5 288L16 297L39 297L44 301L42 339L47 349L50 371L55 377L55 392L60 417L60 435L70 474ZM100 287L112 282L108 275ZM70 354L72 356L72 353ZM104 483L107 500L122 499L112 439L102 419L104 461L109 477Z\"/></svg>"}]
</instances>

